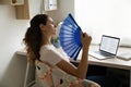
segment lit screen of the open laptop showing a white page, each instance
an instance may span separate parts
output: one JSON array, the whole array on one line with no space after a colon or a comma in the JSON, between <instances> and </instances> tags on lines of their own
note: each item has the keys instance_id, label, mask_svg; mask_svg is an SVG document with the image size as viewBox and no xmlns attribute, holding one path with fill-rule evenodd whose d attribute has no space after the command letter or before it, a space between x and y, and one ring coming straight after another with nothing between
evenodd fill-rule
<instances>
[{"instance_id":1,"label":"lit screen of the open laptop showing a white page","mask_svg":"<svg viewBox=\"0 0 131 87\"><path fill-rule=\"evenodd\" d=\"M118 37L103 35L99 50L111 53L111 54L117 54L119 41L120 41L120 38Z\"/></svg>"}]
</instances>

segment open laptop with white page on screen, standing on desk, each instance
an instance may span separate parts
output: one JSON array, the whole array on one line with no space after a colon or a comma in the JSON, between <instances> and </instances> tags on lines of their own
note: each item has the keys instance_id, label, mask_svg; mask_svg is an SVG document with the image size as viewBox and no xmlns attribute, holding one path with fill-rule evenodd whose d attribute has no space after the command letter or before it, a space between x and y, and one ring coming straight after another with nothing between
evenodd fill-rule
<instances>
[{"instance_id":1,"label":"open laptop with white page on screen, standing on desk","mask_svg":"<svg viewBox=\"0 0 131 87\"><path fill-rule=\"evenodd\" d=\"M99 50L98 51L90 51L88 54L96 59L108 59L115 58L117 55L117 50L119 47L120 38L103 35Z\"/></svg>"}]
</instances>

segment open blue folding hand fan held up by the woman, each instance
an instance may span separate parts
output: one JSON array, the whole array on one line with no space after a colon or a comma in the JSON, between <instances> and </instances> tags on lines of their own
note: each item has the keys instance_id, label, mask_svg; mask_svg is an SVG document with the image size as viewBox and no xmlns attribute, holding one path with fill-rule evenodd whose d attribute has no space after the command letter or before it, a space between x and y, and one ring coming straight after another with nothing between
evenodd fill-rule
<instances>
[{"instance_id":1,"label":"open blue folding hand fan held up by the woman","mask_svg":"<svg viewBox=\"0 0 131 87\"><path fill-rule=\"evenodd\" d=\"M63 21L59 40L63 51L73 60L76 60L79 52L82 49L81 27L76 24L71 14Z\"/></svg>"}]
</instances>

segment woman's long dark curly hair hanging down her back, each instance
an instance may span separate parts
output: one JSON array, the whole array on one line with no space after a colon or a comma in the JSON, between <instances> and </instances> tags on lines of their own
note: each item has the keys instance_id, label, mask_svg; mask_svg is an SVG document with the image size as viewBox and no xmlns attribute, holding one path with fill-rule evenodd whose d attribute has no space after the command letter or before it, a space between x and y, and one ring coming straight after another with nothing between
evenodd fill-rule
<instances>
[{"instance_id":1,"label":"woman's long dark curly hair hanging down her back","mask_svg":"<svg viewBox=\"0 0 131 87\"><path fill-rule=\"evenodd\" d=\"M39 50L43 44L41 40L41 30L39 28L39 24L46 25L48 20L47 14L37 14L31 20L31 26L27 28L25 33L25 37L23 39L26 50L27 57L31 62L35 62L35 60L39 60Z\"/></svg>"}]
</instances>

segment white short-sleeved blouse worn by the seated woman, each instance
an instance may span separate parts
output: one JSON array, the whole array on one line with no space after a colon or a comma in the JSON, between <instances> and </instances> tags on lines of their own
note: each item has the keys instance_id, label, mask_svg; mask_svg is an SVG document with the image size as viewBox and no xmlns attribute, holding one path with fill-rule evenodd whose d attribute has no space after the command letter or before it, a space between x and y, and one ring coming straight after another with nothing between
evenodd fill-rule
<instances>
[{"instance_id":1,"label":"white short-sleeved blouse worn by the seated woman","mask_svg":"<svg viewBox=\"0 0 131 87\"><path fill-rule=\"evenodd\" d=\"M62 54L61 52L58 51L56 47L52 45L45 45L40 48L40 60L48 62L52 65L56 65L59 63L61 60L66 60L69 62L69 59ZM66 59L67 58L67 59Z\"/></svg>"}]
</instances>

